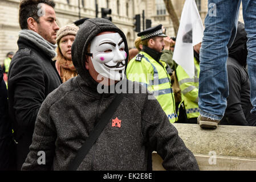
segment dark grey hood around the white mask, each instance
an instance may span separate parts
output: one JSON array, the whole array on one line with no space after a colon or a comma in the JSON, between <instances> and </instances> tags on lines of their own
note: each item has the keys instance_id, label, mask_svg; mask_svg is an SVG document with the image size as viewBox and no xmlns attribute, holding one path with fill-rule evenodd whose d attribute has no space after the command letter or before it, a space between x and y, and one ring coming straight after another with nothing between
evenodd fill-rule
<instances>
[{"instance_id":1,"label":"dark grey hood around the white mask","mask_svg":"<svg viewBox=\"0 0 256 182\"><path fill-rule=\"evenodd\" d=\"M71 54L73 64L78 71L78 74L86 81L90 86L97 86L97 82L91 77L90 73L86 69L86 50L92 39L97 34L105 31L113 31L120 34L124 40L125 52L127 53L127 59L125 60L125 70L127 68L129 51L127 39L123 31L116 27L111 21L103 18L91 18L87 19L79 28L74 43L72 44Z\"/></svg>"}]
</instances>

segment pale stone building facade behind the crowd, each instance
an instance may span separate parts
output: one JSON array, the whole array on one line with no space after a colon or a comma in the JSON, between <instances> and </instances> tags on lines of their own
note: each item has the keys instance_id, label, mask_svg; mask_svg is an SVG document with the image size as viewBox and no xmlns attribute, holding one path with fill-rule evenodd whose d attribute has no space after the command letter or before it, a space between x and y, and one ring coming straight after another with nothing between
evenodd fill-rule
<instances>
[{"instance_id":1,"label":"pale stone building facade behind the crowd","mask_svg":"<svg viewBox=\"0 0 256 182\"><path fill-rule=\"evenodd\" d=\"M204 22L208 13L207 0L195 0ZM6 53L17 51L19 27L19 2L20 0L0 1L0 64L5 59ZM152 27L163 24L167 28L169 36L174 36L172 20L166 11L163 0L54 0L57 23L59 27L75 22L79 18L95 18L96 4L98 6L97 17L101 17L101 8L112 10L112 22L116 24L127 36L129 48L134 47L134 40L137 38L133 23L136 14L141 15L141 31L143 26L142 14L144 10L145 19L151 19ZM185 0L172 0L174 9L180 18ZM242 16L240 16L241 18Z\"/></svg>"}]
</instances>

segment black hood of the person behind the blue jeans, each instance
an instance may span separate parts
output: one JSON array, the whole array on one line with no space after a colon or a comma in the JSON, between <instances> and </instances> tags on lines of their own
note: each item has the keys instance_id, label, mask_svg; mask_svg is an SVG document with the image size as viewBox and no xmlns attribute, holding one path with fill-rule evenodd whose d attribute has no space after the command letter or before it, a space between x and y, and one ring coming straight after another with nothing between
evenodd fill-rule
<instances>
[{"instance_id":1,"label":"black hood of the person behind the blue jeans","mask_svg":"<svg viewBox=\"0 0 256 182\"><path fill-rule=\"evenodd\" d=\"M247 59L247 33L245 31L245 24L238 22L237 35L235 36L234 43L229 48L229 57L237 60L244 67L246 66Z\"/></svg>"}]
</instances>

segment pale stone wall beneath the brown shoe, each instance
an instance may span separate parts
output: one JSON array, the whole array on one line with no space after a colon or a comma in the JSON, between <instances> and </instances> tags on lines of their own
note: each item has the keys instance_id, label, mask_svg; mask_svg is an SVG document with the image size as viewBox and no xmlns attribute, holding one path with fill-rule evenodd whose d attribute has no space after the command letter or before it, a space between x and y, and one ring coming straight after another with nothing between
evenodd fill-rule
<instances>
[{"instance_id":1,"label":"pale stone wall beneath the brown shoe","mask_svg":"<svg viewBox=\"0 0 256 182\"><path fill-rule=\"evenodd\" d=\"M256 127L220 125L216 130L199 125L173 124L202 171L255 171ZM152 154L153 170L164 170L162 159Z\"/></svg>"}]
</instances>

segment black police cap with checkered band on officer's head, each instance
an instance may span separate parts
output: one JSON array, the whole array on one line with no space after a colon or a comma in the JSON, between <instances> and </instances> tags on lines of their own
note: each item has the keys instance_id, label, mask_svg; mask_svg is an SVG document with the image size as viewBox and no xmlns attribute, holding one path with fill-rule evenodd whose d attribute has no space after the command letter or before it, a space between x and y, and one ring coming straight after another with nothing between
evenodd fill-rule
<instances>
[{"instance_id":1,"label":"black police cap with checkered band on officer's head","mask_svg":"<svg viewBox=\"0 0 256 182\"><path fill-rule=\"evenodd\" d=\"M167 36L162 32L162 24L159 24L158 26L155 26L155 27L148 28L142 32L139 32L139 34L137 35L141 37L141 40L149 39L154 36L163 36L163 37Z\"/></svg>"}]
</instances>

